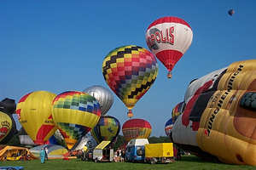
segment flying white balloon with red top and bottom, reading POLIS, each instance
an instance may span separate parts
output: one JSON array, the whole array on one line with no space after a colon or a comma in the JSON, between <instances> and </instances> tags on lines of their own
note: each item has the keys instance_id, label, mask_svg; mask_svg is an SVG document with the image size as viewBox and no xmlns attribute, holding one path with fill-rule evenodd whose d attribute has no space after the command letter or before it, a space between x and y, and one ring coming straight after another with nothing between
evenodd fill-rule
<instances>
[{"instance_id":1,"label":"flying white balloon with red top and bottom, reading POLIS","mask_svg":"<svg viewBox=\"0 0 256 170\"><path fill-rule=\"evenodd\" d=\"M192 38L193 32L189 24L177 17L162 17L148 26L148 48L166 66L168 78L172 77L174 65L188 50Z\"/></svg>"}]
</instances>

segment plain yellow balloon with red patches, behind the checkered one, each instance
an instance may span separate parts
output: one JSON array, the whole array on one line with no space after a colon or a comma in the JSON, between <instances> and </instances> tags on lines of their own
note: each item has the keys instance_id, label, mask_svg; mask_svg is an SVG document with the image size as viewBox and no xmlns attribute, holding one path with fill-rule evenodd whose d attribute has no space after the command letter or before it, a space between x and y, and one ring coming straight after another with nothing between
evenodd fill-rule
<instances>
[{"instance_id":1,"label":"plain yellow balloon with red patches, behind the checkered one","mask_svg":"<svg viewBox=\"0 0 256 170\"><path fill-rule=\"evenodd\" d=\"M45 144L55 133L51 105L55 96L47 91L36 91L23 96L17 105L20 124L35 144Z\"/></svg>"}]
</instances>

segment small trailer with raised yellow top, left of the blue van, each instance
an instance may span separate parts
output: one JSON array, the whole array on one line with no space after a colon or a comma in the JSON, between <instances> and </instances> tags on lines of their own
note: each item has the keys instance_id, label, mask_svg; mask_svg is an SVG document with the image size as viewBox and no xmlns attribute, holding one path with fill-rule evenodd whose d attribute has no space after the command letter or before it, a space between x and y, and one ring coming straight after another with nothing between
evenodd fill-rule
<instances>
[{"instance_id":1,"label":"small trailer with raised yellow top, left of the blue van","mask_svg":"<svg viewBox=\"0 0 256 170\"><path fill-rule=\"evenodd\" d=\"M113 149L108 148L110 141L102 141L93 150L93 161L113 161Z\"/></svg>"}]
</instances>

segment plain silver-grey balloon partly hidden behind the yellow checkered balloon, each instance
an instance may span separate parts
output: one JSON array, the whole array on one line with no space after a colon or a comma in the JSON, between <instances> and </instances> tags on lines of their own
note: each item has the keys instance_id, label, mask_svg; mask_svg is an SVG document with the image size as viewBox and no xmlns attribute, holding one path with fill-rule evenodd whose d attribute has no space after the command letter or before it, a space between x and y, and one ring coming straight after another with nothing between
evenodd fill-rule
<instances>
[{"instance_id":1,"label":"plain silver-grey balloon partly hidden behind the yellow checkered balloon","mask_svg":"<svg viewBox=\"0 0 256 170\"><path fill-rule=\"evenodd\" d=\"M101 105L102 115L106 115L108 110L113 105L113 94L102 86L91 86L84 89L84 93L95 97Z\"/></svg>"}]
</instances>

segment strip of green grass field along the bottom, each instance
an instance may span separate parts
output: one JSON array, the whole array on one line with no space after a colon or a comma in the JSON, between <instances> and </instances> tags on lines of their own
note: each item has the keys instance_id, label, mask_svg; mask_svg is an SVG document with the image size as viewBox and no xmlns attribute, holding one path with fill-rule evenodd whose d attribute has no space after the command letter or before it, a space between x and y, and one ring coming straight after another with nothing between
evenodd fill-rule
<instances>
[{"instance_id":1,"label":"strip of green grass field along the bottom","mask_svg":"<svg viewBox=\"0 0 256 170\"><path fill-rule=\"evenodd\" d=\"M1 166L22 166L25 170L241 170L256 169L252 166L227 165L201 161L196 156L183 156L182 161L169 164L130 163L130 162L93 162L80 161L79 159L49 160L42 164L39 160L34 161L0 161Z\"/></svg>"}]
</instances>

